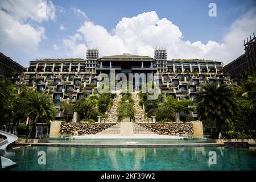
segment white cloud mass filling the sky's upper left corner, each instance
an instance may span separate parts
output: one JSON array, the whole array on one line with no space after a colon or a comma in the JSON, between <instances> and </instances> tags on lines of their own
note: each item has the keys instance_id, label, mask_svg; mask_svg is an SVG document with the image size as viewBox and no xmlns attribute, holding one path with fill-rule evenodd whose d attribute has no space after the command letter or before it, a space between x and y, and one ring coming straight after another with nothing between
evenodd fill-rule
<instances>
[{"instance_id":1,"label":"white cloud mass filling the sky's upper left corner","mask_svg":"<svg viewBox=\"0 0 256 182\"><path fill-rule=\"evenodd\" d=\"M39 4L46 5L46 16L39 16ZM51 1L2 0L0 1L0 49L13 59L27 60L46 39L41 22L55 19L55 7ZM21 63L23 65L27 64Z\"/></svg>"}]
</instances>

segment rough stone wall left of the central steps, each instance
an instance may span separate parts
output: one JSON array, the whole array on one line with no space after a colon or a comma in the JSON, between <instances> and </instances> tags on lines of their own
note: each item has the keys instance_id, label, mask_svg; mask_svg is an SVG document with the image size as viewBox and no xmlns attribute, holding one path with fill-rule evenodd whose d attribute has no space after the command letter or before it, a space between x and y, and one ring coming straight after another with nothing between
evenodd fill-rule
<instances>
[{"instance_id":1,"label":"rough stone wall left of the central steps","mask_svg":"<svg viewBox=\"0 0 256 182\"><path fill-rule=\"evenodd\" d=\"M106 130L116 123L67 123L62 122L59 133L61 135L90 135Z\"/></svg>"}]
</instances>

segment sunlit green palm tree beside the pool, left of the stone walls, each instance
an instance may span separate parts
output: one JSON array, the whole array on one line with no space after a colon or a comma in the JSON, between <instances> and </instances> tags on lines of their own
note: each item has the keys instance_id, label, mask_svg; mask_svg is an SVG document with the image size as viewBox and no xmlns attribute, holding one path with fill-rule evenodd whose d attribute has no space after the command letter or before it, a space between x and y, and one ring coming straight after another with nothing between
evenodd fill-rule
<instances>
[{"instance_id":1,"label":"sunlit green palm tree beside the pool, left of the stone walls","mask_svg":"<svg viewBox=\"0 0 256 182\"><path fill-rule=\"evenodd\" d=\"M27 116L30 117L32 121L32 126L35 126L35 123L39 119L50 121L55 118L56 110L54 106L51 96L47 93L38 93L31 90L31 92L27 94L26 107L24 109L26 110ZM35 134L35 127L32 127L31 138L35 138Z\"/></svg>"}]
</instances>

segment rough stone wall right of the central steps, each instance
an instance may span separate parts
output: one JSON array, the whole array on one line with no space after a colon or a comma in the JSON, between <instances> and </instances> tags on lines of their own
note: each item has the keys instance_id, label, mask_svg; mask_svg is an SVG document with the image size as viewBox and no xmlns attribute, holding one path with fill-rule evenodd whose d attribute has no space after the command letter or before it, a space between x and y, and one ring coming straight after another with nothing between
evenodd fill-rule
<instances>
[{"instance_id":1,"label":"rough stone wall right of the central steps","mask_svg":"<svg viewBox=\"0 0 256 182\"><path fill-rule=\"evenodd\" d=\"M159 135L193 137L192 123L137 123Z\"/></svg>"}]
</instances>

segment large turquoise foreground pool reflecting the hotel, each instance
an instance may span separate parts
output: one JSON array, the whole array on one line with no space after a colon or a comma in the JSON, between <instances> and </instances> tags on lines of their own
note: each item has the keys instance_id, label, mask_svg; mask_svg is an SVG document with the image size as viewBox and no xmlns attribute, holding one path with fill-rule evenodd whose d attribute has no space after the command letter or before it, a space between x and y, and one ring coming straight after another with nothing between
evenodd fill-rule
<instances>
[{"instance_id":1,"label":"large turquoise foreground pool reflecting the hotel","mask_svg":"<svg viewBox=\"0 0 256 182\"><path fill-rule=\"evenodd\" d=\"M38 152L46 164L38 164ZM216 152L216 164L209 152ZM256 170L256 148L224 147L69 147L34 146L4 156L18 163L10 170Z\"/></svg>"}]
</instances>

